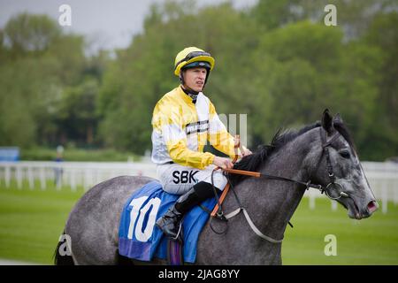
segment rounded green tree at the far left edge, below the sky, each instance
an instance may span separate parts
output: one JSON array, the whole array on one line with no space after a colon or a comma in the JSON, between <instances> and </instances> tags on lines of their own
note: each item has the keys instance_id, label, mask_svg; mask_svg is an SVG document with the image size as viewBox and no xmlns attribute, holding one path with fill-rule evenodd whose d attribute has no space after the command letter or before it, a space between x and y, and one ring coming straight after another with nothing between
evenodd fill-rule
<instances>
[{"instance_id":1,"label":"rounded green tree at the far left edge, below the sky","mask_svg":"<svg viewBox=\"0 0 398 283\"><path fill-rule=\"evenodd\" d=\"M84 77L83 38L62 34L47 16L23 13L6 24L2 43L0 143L28 147L57 142L63 88Z\"/></svg>"}]
</instances>

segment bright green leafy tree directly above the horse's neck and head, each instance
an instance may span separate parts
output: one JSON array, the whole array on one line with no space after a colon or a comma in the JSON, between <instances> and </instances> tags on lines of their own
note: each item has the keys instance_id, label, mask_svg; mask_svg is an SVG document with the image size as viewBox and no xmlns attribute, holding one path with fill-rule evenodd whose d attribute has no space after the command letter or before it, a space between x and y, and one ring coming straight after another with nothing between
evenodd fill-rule
<instances>
[{"instance_id":1,"label":"bright green leafy tree directly above the horse's neck and head","mask_svg":"<svg viewBox=\"0 0 398 283\"><path fill-rule=\"evenodd\" d=\"M379 50L344 42L339 28L303 21L264 34L254 57L258 76L267 78L264 93L268 103L266 126L256 127L257 135L263 132L271 138L279 126L319 120L329 108L341 112L359 152L367 156L366 134L377 126L373 121Z\"/></svg>"}]
</instances>

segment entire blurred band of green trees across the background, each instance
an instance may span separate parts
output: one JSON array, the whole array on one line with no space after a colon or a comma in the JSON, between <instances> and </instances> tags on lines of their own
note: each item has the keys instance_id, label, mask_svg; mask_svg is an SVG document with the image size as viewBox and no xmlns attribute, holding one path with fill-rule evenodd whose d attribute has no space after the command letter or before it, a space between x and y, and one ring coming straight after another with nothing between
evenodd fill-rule
<instances>
[{"instance_id":1,"label":"entire blurred band of green trees across the background","mask_svg":"<svg viewBox=\"0 0 398 283\"><path fill-rule=\"evenodd\" d=\"M325 4L337 27L325 26ZM396 157L397 11L396 0L261 0L246 10L166 1L128 48L90 56L55 19L19 14L0 28L0 146L142 155L155 103L179 83L175 54L197 46L216 58L204 93L218 113L248 114L250 148L327 107L362 160Z\"/></svg>"}]
</instances>

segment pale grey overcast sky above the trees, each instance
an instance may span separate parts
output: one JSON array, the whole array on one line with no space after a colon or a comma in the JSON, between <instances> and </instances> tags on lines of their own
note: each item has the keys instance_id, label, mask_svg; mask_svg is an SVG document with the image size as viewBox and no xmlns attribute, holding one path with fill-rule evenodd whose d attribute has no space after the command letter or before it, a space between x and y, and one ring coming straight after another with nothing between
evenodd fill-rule
<instances>
[{"instance_id":1,"label":"pale grey overcast sky above the trees","mask_svg":"<svg viewBox=\"0 0 398 283\"><path fill-rule=\"evenodd\" d=\"M87 36L93 49L98 47L113 49L125 48L132 35L142 31L145 15L153 3L165 0L0 0L0 27L14 15L27 11L29 13L45 13L58 19L58 11L62 4L72 9L72 26L62 27ZM199 6L218 4L226 0L199 0ZM234 7L247 8L256 0L232 0Z\"/></svg>"}]
</instances>

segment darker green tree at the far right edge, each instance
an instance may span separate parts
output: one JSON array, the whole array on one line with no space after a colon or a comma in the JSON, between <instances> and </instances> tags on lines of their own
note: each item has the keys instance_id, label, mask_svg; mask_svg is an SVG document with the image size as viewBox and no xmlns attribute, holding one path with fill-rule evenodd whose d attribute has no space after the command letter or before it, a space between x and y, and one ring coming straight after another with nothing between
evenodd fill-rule
<instances>
[{"instance_id":1,"label":"darker green tree at the far right edge","mask_svg":"<svg viewBox=\"0 0 398 283\"><path fill-rule=\"evenodd\" d=\"M398 12L379 13L364 34L364 42L373 49L379 50L376 80L376 111L371 118L373 123L367 128L364 136L366 156L372 159L398 156ZM373 64L375 65L375 64ZM371 141L371 143L369 142ZM378 149L374 148L377 145Z\"/></svg>"}]
</instances>

